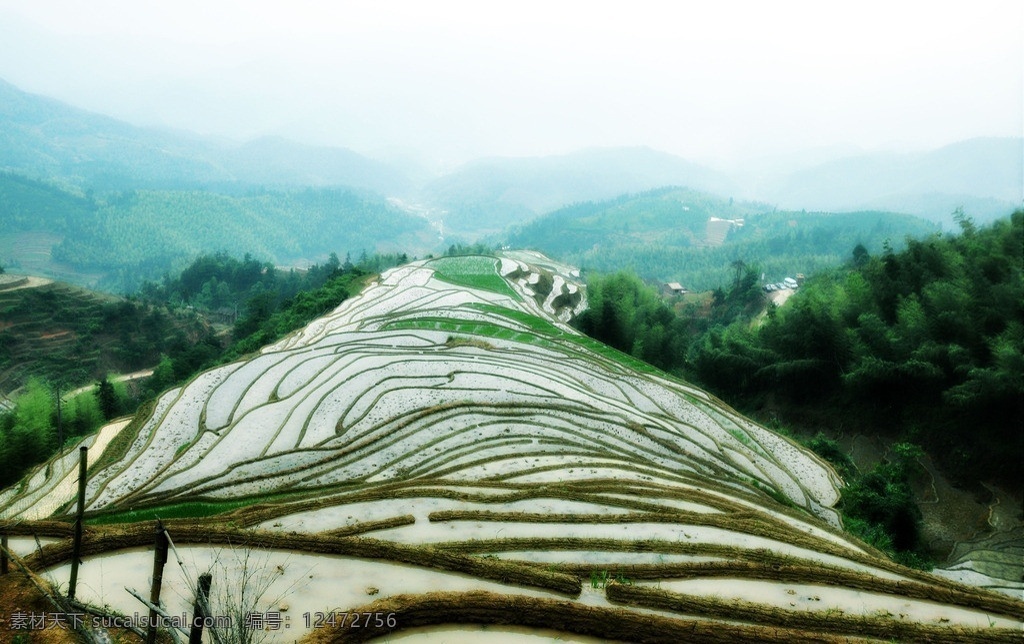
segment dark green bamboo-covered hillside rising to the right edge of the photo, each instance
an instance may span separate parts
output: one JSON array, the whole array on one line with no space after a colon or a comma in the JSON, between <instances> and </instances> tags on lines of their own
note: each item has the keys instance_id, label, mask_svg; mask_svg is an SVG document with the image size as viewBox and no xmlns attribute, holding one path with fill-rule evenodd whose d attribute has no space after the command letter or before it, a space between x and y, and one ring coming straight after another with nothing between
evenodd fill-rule
<instances>
[{"instance_id":1,"label":"dark green bamboo-covered hillside rising to the right edge of the photo","mask_svg":"<svg viewBox=\"0 0 1024 644\"><path fill-rule=\"evenodd\" d=\"M691 373L745 405L921 442L961 478L1020 484L1024 211L900 253L860 248L760 328L713 330ZM742 405L741 405L742 406Z\"/></svg>"}]
</instances>

